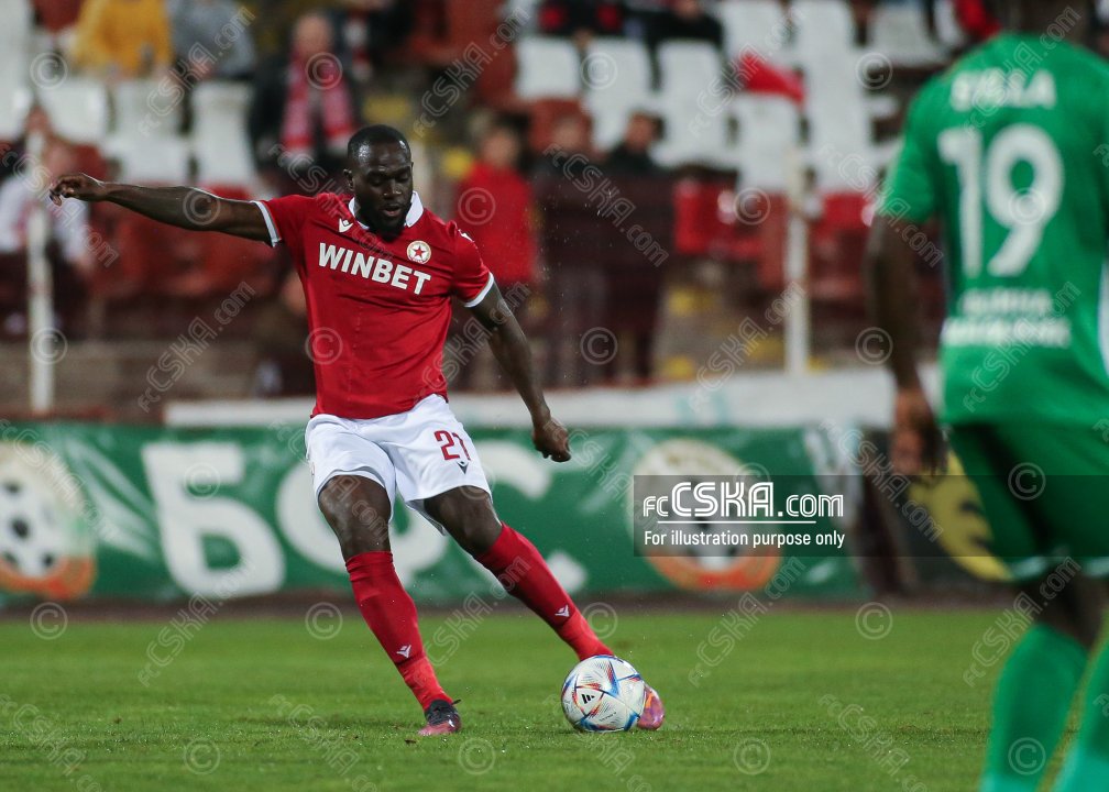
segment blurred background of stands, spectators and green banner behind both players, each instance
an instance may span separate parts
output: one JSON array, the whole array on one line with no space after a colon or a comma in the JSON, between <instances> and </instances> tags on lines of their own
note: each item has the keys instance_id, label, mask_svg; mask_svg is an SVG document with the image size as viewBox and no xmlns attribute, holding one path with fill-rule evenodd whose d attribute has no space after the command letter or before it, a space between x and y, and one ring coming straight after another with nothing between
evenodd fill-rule
<instances>
[{"instance_id":1,"label":"blurred background of stands, spectators and green banner behind both players","mask_svg":"<svg viewBox=\"0 0 1109 792\"><path fill-rule=\"evenodd\" d=\"M997 31L986 0L0 0L0 589L344 589L303 461L287 253L44 192L73 170L342 192L366 123L408 135L424 203L478 243L579 433L576 463L532 459L456 317L452 404L571 590L764 586L777 561L648 563L625 541L633 475L744 466L849 493L848 546L795 590L964 580L883 494L888 344L861 254L908 101ZM912 243L934 348L936 229ZM464 596L468 559L397 520L417 597Z\"/></svg>"}]
</instances>

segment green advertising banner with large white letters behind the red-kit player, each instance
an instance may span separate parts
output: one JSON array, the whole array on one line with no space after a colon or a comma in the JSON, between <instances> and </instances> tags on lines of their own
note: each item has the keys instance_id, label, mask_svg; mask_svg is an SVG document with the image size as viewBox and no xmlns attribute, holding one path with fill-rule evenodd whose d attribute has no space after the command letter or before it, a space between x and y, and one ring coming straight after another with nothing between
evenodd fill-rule
<instances>
[{"instance_id":1,"label":"green advertising banner with large white letters behind the red-kit player","mask_svg":"<svg viewBox=\"0 0 1109 792\"><path fill-rule=\"evenodd\" d=\"M761 470L842 483L851 535L859 477L818 428L571 433L557 465L526 430L476 429L500 517L523 531L571 592L761 590L781 556L652 558L632 548L635 475ZM849 541L848 541L849 545ZM465 598L491 577L398 505L393 551L418 601ZM796 559L791 595L853 597L849 547ZM312 494L303 426L171 429L0 422L0 606L19 600L348 591Z\"/></svg>"}]
</instances>

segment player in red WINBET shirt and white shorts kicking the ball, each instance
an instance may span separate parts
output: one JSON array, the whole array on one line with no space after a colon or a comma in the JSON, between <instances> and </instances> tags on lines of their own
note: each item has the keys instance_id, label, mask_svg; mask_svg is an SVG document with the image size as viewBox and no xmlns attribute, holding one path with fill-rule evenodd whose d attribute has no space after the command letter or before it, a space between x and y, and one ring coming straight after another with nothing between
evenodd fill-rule
<instances>
[{"instance_id":1,"label":"player in red WINBET shirt and white shorts kicking the ball","mask_svg":"<svg viewBox=\"0 0 1109 792\"><path fill-rule=\"evenodd\" d=\"M416 606L397 578L388 524L396 495L492 572L584 659L611 654L535 546L501 522L481 463L447 405L442 344L451 298L489 334L497 361L523 398L536 449L570 458L551 417L527 339L474 242L431 214L413 191L408 142L397 130L359 130L344 172L352 195L321 193L228 201L192 187L142 187L64 175L55 203L110 201L163 223L220 231L293 255L307 301L316 407L305 429L316 499L339 541L355 599L424 708L420 734L461 728L420 640ZM639 725L658 729L663 708L648 688Z\"/></svg>"}]
</instances>

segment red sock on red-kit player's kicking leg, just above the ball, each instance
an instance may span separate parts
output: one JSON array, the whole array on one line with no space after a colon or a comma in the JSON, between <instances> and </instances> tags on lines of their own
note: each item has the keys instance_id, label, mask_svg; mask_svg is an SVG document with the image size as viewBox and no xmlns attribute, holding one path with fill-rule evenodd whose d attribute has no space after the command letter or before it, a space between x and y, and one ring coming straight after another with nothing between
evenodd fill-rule
<instances>
[{"instance_id":1,"label":"red sock on red-kit player's kicking leg, just above the ball","mask_svg":"<svg viewBox=\"0 0 1109 792\"><path fill-rule=\"evenodd\" d=\"M500 536L488 550L475 556L497 576L505 589L550 625L578 658L611 654L570 596L559 586L536 546L503 522Z\"/></svg>"}]
</instances>

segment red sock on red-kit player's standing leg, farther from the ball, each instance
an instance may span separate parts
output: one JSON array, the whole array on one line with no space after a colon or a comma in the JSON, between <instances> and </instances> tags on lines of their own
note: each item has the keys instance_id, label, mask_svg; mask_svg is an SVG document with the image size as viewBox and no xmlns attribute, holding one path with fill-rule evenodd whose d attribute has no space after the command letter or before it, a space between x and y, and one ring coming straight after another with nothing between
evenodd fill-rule
<instances>
[{"instance_id":1,"label":"red sock on red-kit player's standing leg, farther from the ball","mask_svg":"<svg viewBox=\"0 0 1109 792\"><path fill-rule=\"evenodd\" d=\"M419 705L435 699L450 701L424 653L416 621L416 603L405 591L393 566L391 552L363 552L347 561L350 586L362 618L374 631L385 653L396 663Z\"/></svg>"}]
</instances>

